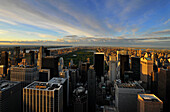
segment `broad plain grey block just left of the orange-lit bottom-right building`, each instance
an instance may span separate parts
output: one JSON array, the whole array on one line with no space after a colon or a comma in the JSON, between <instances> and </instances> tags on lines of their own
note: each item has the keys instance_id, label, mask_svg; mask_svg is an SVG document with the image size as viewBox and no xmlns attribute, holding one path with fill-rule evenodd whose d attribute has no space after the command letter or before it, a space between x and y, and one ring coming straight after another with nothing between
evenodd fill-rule
<instances>
[{"instance_id":1,"label":"broad plain grey block just left of the orange-lit bottom-right building","mask_svg":"<svg viewBox=\"0 0 170 112\"><path fill-rule=\"evenodd\" d=\"M138 83L115 83L115 106L119 112L137 112L137 94L144 93Z\"/></svg>"}]
</instances>

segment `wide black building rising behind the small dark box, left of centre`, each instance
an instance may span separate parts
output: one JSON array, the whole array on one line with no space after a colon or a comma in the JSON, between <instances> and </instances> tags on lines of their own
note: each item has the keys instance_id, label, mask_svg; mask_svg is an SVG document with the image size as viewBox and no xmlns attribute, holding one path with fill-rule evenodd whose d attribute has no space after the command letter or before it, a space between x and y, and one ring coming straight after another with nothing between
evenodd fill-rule
<instances>
[{"instance_id":1,"label":"wide black building rising behind the small dark box, left of centre","mask_svg":"<svg viewBox=\"0 0 170 112\"><path fill-rule=\"evenodd\" d=\"M50 69L50 79L58 77L58 61L59 57L46 56L42 59L42 69Z\"/></svg>"}]
</instances>

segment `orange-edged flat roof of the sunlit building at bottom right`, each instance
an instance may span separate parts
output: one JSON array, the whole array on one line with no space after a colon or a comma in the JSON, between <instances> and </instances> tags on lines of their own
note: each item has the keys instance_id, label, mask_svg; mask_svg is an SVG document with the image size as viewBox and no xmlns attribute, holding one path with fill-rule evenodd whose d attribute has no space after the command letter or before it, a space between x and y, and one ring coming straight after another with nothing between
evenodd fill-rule
<instances>
[{"instance_id":1,"label":"orange-edged flat roof of the sunlit building at bottom right","mask_svg":"<svg viewBox=\"0 0 170 112\"><path fill-rule=\"evenodd\" d=\"M138 98L142 99L145 102L162 102L154 94L138 94Z\"/></svg>"}]
</instances>

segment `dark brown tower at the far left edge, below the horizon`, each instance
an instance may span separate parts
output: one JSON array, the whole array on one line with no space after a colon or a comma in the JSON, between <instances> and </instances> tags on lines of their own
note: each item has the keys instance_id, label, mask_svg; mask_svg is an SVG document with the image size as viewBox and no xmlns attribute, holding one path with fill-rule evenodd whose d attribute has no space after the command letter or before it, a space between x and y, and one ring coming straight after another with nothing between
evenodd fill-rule
<instances>
[{"instance_id":1,"label":"dark brown tower at the far left edge, below the horizon","mask_svg":"<svg viewBox=\"0 0 170 112\"><path fill-rule=\"evenodd\" d=\"M1 52L1 65L5 65L4 73L7 74L8 69L8 53L6 51Z\"/></svg>"}]
</instances>

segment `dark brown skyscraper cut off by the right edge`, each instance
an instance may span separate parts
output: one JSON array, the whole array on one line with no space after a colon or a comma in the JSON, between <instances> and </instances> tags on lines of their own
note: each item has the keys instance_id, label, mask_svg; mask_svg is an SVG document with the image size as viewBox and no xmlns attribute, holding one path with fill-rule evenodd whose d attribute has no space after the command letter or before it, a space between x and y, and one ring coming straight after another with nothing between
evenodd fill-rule
<instances>
[{"instance_id":1,"label":"dark brown skyscraper cut off by the right edge","mask_svg":"<svg viewBox=\"0 0 170 112\"><path fill-rule=\"evenodd\" d=\"M164 112L170 111L170 67L158 68L158 97L164 102Z\"/></svg>"}]
</instances>

